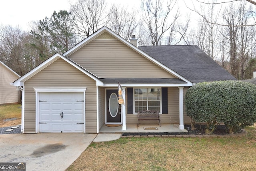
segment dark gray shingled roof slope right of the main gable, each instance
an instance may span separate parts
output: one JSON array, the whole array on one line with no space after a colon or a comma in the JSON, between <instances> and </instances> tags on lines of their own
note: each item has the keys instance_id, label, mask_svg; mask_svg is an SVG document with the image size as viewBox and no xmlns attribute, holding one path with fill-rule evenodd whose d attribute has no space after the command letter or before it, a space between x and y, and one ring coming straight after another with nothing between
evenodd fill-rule
<instances>
[{"instance_id":1,"label":"dark gray shingled roof slope right of the main gable","mask_svg":"<svg viewBox=\"0 0 256 171\"><path fill-rule=\"evenodd\" d=\"M236 80L196 45L139 48L192 83Z\"/></svg>"}]
</instances>

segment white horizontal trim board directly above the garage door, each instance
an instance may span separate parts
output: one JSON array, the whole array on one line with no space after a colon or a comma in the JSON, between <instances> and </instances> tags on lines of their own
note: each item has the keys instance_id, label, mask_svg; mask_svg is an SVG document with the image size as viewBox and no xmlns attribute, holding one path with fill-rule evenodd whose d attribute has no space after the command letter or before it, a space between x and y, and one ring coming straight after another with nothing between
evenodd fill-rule
<instances>
[{"instance_id":1,"label":"white horizontal trim board directly above the garage door","mask_svg":"<svg viewBox=\"0 0 256 171\"><path fill-rule=\"evenodd\" d=\"M86 87L33 87L37 92L84 92Z\"/></svg>"}]
</instances>

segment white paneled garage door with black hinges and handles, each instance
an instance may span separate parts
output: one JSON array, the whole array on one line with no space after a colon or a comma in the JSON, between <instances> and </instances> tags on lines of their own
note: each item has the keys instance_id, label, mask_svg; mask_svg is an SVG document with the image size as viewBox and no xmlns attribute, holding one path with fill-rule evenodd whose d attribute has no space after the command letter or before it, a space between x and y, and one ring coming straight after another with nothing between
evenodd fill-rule
<instances>
[{"instance_id":1,"label":"white paneled garage door with black hinges and handles","mask_svg":"<svg viewBox=\"0 0 256 171\"><path fill-rule=\"evenodd\" d=\"M39 132L84 132L84 93L39 93Z\"/></svg>"}]
</instances>

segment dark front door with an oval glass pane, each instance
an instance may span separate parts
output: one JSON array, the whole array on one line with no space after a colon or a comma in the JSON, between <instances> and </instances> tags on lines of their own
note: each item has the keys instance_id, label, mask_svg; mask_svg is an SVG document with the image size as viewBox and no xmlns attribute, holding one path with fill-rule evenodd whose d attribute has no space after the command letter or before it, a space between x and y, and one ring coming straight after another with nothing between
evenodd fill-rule
<instances>
[{"instance_id":1,"label":"dark front door with an oval glass pane","mask_svg":"<svg viewBox=\"0 0 256 171\"><path fill-rule=\"evenodd\" d=\"M118 104L118 89L106 90L106 124L121 124L121 106Z\"/></svg>"}]
</instances>

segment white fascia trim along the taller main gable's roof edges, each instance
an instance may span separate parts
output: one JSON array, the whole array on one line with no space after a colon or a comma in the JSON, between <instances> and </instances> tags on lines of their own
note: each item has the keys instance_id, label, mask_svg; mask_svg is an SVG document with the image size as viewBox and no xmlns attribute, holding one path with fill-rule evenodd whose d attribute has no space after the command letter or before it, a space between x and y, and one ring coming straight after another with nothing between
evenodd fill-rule
<instances>
[{"instance_id":1,"label":"white fascia trim along the taller main gable's roof edges","mask_svg":"<svg viewBox=\"0 0 256 171\"><path fill-rule=\"evenodd\" d=\"M134 46L133 44L131 44L130 42L128 42L127 40L125 40L124 38L119 36L118 34L116 34L115 32L113 32L112 30L110 30L106 26L100 28L100 30L98 30L97 32L95 32L94 34L92 34L88 38L84 39L82 42L80 42L79 44L77 44L76 46L71 48L70 50L68 50L66 53L63 54L63 56L67 56L67 57L70 56L73 52L75 52L76 50L80 49L82 46L84 46L84 44L87 44L88 42L90 42L91 40L96 38L98 36L98 34L101 34L101 32L103 32L103 31L108 32L113 37L115 37L116 39L120 40L122 43L126 44L128 47L132 48L133 50L135 50L136 52L138 52L139 54L141 54L142 56L144 56L145 58L147 58L151 62L154 62L155 64L157 64L158 66L160 66L164 70L170 72L172 75L176 76L177 78L180 78L184 82L191 83L189 80L187 80L186 78L180 76L179 74L177 74L176 72L174 72L170 68L166 67L164 64L158 62L157 60L155 60L154 58L152 58L151 56L149 56L148 54L146 54L145 52L143 52L142 50L140 50L139 48L137 48L136 46Z\"/></svg>"}]
</instances>

